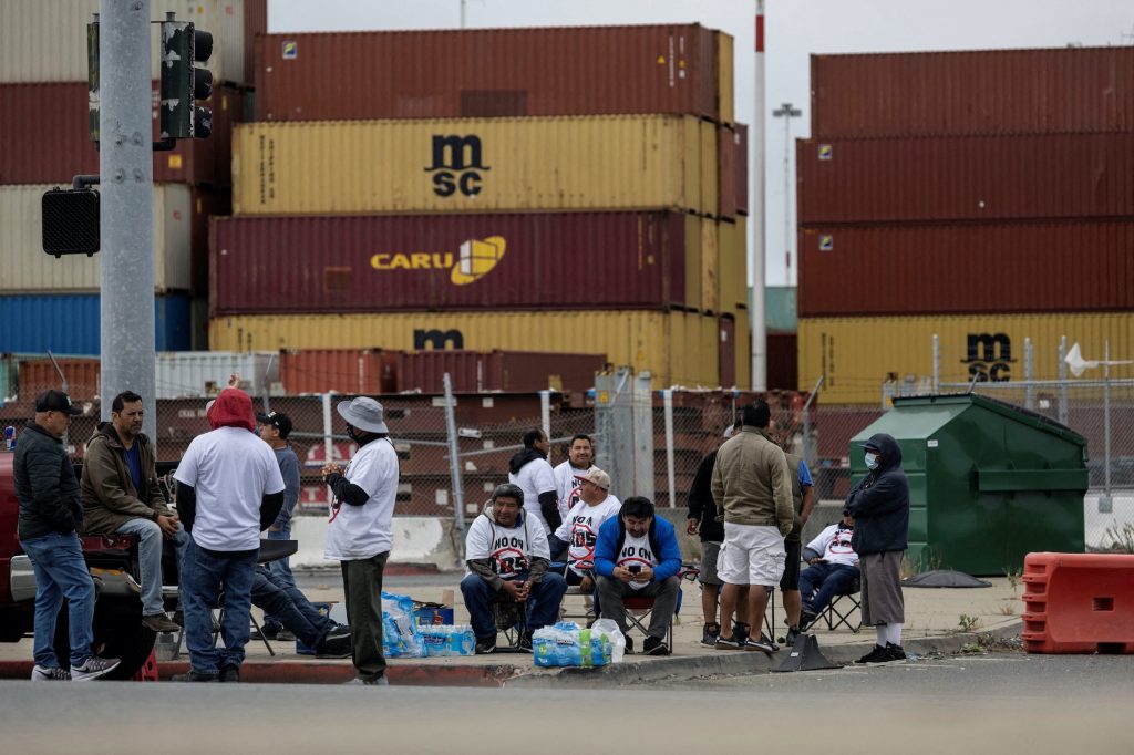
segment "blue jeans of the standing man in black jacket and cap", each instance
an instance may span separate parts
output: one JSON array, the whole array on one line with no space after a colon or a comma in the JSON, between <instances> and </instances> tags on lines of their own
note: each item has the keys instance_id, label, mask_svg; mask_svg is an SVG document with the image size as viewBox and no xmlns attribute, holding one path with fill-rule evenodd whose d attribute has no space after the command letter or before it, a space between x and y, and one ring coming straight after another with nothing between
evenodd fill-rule
<instances>
[{"instance_id":1,"label":"blue jeans of the standing man in black jacket and cap","mask_svg":"<svg viewBox=\"0 0 1134 755\"><path fill-rule=\"evenodd\" d=\"M94 633L94 580L83 560L78 535L51 533L19 542L35 570L35 664L59 667L56 655L56 617L67 599L70 664L83 665L91 656Z\"/></svg>"}]
</instances>

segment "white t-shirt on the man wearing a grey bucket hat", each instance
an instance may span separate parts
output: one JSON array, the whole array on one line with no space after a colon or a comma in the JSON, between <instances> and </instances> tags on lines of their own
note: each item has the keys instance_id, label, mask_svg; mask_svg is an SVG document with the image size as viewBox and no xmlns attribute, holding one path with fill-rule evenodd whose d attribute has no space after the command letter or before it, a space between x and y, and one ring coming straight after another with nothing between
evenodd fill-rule
<instances>
[{"instance_id":1,"label":"white t-shirt on the man wearing a grey bucket hat","mask_svg":"<svg viewBox=\"0 0 1134 755\"><path fill-rule=\"evenodd\" d=\"M370 499L362 506L336 502L327 525L323 557L356 561L393 548L393 501L398 495L398 453L387 438L363 446L344 470Z\"/></svg>"}]
</instances>

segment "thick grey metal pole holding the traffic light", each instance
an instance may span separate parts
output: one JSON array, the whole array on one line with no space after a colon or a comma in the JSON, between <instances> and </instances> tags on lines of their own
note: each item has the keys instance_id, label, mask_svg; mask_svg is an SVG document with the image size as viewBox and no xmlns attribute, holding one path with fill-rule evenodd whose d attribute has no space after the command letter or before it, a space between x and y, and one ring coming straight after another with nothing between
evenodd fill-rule
<instances>
[{"instance_id":1,"label":"thick grey metal pole holding the traffic light","mask_svg":"<svg viewBox=\"0 0 1134 755\"><path fill-rule=\"evenodd\" d=\"M150 0L101 0L102 419L132 390L156 438Z\"/></svg>"}]
</instances>

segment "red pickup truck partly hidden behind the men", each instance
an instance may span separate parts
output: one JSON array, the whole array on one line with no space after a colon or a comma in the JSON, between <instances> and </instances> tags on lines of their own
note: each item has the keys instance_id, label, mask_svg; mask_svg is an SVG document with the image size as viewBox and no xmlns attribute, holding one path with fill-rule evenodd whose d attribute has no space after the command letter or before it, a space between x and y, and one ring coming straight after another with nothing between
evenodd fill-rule
<instances>
[{"instance_id":1,"label":"red pickup truck partly hidden behind the men","mask_svg":"<svg viewBox=\"0 0 1134 755\"><path fill-rule=\"evenodd\" d=\"M0 642L8 643L19 642L29 635L35 617L35 572L16 536L19 503L12 481L14 457L15 453L0 451ZM159 463L159 475L172 466ZM78 473L76 467L76 475ZM81 540L98 594L94 650L100 655L122 661L108 678L130 679L150 658L154 643L154 633L142 626L135 538L94 535ZM172 608L177 600L177 570L172 553L163 560L162 567L163 582L167 583L162 592L167 606ZM169 586L170 582L172 586ZM56 651L60 662L66 664L69 658L66 604L56 622Z\"/></svg>"}]
</instances>

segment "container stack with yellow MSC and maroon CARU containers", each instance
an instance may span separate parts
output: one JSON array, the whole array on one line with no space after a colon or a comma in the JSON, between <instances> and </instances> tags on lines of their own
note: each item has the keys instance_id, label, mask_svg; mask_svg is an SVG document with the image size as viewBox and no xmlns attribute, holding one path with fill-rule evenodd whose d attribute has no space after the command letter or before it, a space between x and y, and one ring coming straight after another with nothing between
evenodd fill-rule
<instances>
[{"instance_id":1,"label":"container stack with yellow MSC and maroon CARU containers","mask_svg":"<svg viewBox=\"0 0 1134 755\"><path fill-rule=\"evenodd\" d=\"M746 384L731 67L700 26L259 37L212 347L601 351Z\"/></svg>"}]
</instances>

